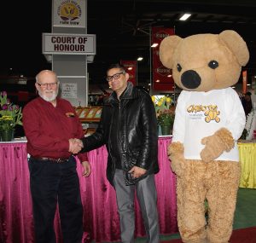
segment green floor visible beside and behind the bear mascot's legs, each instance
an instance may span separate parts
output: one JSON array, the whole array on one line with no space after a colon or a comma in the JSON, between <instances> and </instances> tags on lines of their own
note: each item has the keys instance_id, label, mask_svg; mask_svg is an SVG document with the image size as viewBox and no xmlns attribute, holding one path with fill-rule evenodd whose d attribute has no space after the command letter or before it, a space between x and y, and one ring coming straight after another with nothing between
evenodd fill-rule
<instances>
[{"instance_id":1,"label":"green floor visible beside and behind the bear mascot's legs","mask_svg":"<svg viewBox=\"0 0 256 243\"><path fill-rule=\"evenodd\" d=\"M239 188L237 194L234 229L256 226L256 189ZM161 235L160 240L179 238L179 234ZM146 242L145 238L137 238L136 242Z\"/></svg>"}]
</instances>

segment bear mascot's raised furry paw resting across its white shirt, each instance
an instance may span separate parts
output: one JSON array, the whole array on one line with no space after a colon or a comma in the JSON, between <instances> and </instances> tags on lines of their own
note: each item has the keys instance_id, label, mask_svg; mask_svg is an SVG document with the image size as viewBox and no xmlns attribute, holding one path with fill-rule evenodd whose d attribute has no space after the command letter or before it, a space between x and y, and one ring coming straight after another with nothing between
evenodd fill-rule
<instances>
[{"instance_id":1,"label":"bear mascot's raised furry paw resting across its white shirt","mask_svg":"<svg viewBox=\"0 0 256 243\"><path fill-rule=\"evenodd\" d=\"M234 148L235 143L230 131L221 128L212 136L204 137L201 140L201 144L206 145L200 153L201 159L205 162L210 162L217 159L224 151L229 152L231 148Z\"/></svg>"}]
</instances>

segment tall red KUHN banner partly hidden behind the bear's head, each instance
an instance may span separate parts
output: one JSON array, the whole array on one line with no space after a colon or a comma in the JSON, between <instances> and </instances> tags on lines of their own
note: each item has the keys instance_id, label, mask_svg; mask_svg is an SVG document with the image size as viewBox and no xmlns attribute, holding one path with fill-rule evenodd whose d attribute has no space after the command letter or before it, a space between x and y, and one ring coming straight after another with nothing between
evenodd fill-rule
<instances>
[{"instance_id":1,"label":"tall red KUHN banner partly hidden behind the bear's head","mask_svg":"<svg viewBox=\"0 0 256 243\"><path fill-rule=\"evenodd\" d=\"M171 35L174 35L173 28L152 27L151 43L158 43L157 47L152 48L153 90L173 90L174 81L172 79L172 70L164 67L159 57L161 41Z\"/></svg>"}]
</instances>

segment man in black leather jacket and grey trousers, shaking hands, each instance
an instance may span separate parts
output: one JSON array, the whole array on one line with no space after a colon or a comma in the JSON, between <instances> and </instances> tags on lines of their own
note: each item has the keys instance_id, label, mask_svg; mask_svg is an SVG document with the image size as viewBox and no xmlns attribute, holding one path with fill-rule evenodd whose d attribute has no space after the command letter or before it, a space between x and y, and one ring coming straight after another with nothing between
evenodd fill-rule
<instances>
[{"instance_id":1,"label":"man in black leather jacket and grey trousers, shaking hands","mask_svg":"<svg viewBox=\"0 0 256 243\"><path fill-rule=\"evenodd\" d=\"M107 70L113 90L102 108L96 132L82 139L84 151L106 144L108 181L116 191L122 242L134 242L134 194L143 213L147 242L160 242L154 174L158 166L158 131L150 95L128 81L119 64Z\"/></svg>"}]
</instances>

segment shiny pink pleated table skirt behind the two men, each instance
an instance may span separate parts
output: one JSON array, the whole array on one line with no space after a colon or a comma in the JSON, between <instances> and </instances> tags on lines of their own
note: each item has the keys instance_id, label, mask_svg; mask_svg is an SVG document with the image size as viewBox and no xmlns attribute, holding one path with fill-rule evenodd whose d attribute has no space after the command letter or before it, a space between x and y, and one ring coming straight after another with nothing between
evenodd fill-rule
<instances>
[{"instance_id":1,"label":"shiny pink pleated table skirt behind the two men","mask_svg":"<svg viewBox=\"0 0 256 243\"><path fill-rule=\"evenodd\" d=\"M160 216L160 234L177 232L175 175L170 169L167 146L170 137L159 139L160 172L155 175ZM119 241L119 216L113 187L106 178L107 150L90 151L92 173L82 176L78 164L82 202L84 205L83 242ZM143 219L136 201L136 235L144 236ZM57 242L61 243L60 223L55 217ZM32 200L26 159L26 142L0 144L0 242L34 242Z\"/></svg>"}]
</instances>

